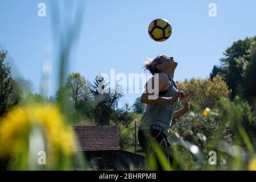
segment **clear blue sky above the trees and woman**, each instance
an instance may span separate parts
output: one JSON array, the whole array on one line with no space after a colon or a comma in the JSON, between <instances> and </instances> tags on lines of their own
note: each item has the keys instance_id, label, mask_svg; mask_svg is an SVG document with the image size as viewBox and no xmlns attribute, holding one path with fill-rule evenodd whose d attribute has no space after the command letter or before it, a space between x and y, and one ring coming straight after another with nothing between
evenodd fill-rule
<instances>
[{"instance_id":1,"label":"clear blue sky above the trees and woman","mask_svg":"<svg viewBox=\"0 0 256 182\"><path fill-rule=\"evenodd\" d=\"M43 18L38 16L40 2L47 8ZM217 17L208 15L211 2L217 5ZM36 92L42 80L42 63L52 60L50 94L55 95L57 48L49 9L51 3L46 0L1 0L0 45L9 51L13 75L29 78ZM117 73L143 73L146 57L164 54L174 56L179 63L174 80L207 77L227 47L256 35L255 9L254 0L86 1L79 44L72 53L69 72L80 72L91 81L111 68ZM72 17L72 11L67 6L63 13ZM154 42L148 36L148 24L156 18L165 18L172 25L172 36L166 42ZM126 102L132 105L138 96L126 94L119 106Z\"/></svg>"}]
</instances>

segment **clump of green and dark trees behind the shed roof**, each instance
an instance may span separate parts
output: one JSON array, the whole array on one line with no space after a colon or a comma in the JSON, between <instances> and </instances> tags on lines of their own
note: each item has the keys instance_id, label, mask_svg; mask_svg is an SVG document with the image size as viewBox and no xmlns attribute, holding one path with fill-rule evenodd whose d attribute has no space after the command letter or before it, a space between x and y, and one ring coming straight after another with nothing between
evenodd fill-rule
<instances>
[{"instance_id":1,"label":"clump of green and dark trees behind the shed roof","mask_svg":"<svg viewBox=\"0 0 256 182\"><path fill-rule=\"evenodd\" d=\"M129 105L118 108L117 103L122 94L110 93L107 86L104 77L97 76L91 85L80 73L72 73L65 85L57 90L56 100L60 104L67 103L72 125L88 125L88 120L93 121L93 125L108 125L110 120L128 125L132 121ZM102 88L102 92L98 88Z\"/></svg>"}]
</instances>

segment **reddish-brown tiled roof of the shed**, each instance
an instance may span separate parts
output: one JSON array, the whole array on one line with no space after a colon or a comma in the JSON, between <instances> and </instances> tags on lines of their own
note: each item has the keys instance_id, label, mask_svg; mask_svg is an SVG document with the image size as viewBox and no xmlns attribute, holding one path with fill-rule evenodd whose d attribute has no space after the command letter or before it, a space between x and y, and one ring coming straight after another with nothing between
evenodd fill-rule
<instances>
[{"instance_id":1,"label":"reddish-brown tiled roof of the shed","mask_svg":"<svg viewBox=\"0 0 256 182\"><path fill-rule=\"evenodd\" d=\"M75 126L79 151L119 150L117 126Z\"/></svg>"}]
</instances>

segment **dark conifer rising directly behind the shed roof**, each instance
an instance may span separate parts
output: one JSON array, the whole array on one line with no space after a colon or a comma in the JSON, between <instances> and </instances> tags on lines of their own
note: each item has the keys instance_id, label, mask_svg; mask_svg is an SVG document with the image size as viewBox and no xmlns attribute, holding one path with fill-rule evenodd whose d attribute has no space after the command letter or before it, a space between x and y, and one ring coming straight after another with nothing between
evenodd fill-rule
<instances>
[{"instance_id":1,"label":"dark conifer rising directly behind the shed roof","mask_svg":"<svg viewBox=\"0 0 256 182\"><path fill-rule=\"evenodd\" d=\"M118 86L115 87L118 89ZM112 114L117 109L118 100L122 94L114 90L111 92L108 83L101 75L96 76L90 88L90 92L94 96L96 107L93 110L94 118L100 125L109 125Z\"/></svg>"}]
</instances>

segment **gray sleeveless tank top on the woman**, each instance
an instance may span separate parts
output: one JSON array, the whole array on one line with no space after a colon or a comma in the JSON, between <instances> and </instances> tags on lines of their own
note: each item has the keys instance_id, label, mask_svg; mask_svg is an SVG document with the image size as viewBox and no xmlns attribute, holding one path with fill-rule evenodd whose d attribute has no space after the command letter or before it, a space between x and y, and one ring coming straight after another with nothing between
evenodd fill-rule
<instances>
[{"instance_id":1,"label":"gray sleeveless tank top on the woman","mask_svg":"<svg viewBox=\"0 0 256 182\"><path fill-rule=\"evenodd\" d=\"M160 74L160 73L159 73ZM166 74L166 73L164 73ZM177 91L177 85L174 80L166 74L169 78L170 86L167 93L163 97L172 97ZM172 105L154 105L150 110L147 110L141 119L140 127L143 128L148 125L158 125L163 128L163 133L168 136L169 129L172 122L172 117L174 116L174 110L178 104L179 100L174 102Z\"/></svg>"}]
</instances>

